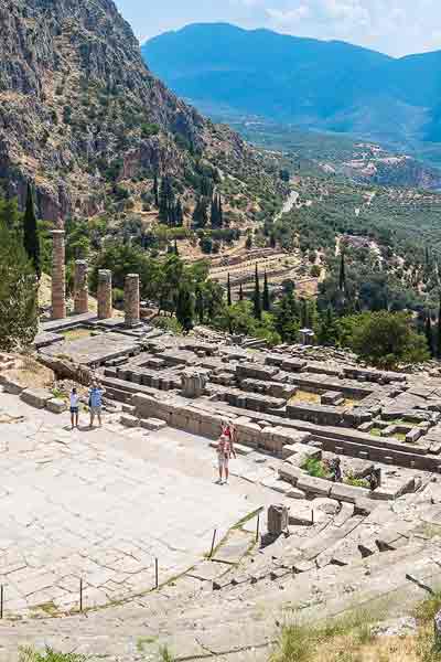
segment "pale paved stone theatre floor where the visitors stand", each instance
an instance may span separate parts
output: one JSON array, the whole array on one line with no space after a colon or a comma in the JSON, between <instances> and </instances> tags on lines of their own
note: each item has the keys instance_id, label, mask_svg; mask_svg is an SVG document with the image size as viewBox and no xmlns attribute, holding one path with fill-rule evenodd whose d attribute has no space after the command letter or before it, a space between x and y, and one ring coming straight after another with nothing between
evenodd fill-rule
<instances>
[{"instance_id":1,"label":"pale paved stone theatre floor where the visitors stand","mask_svg":"<svg viewBox=\"0 0 441 662\"><path fill-rule=\"evenodd\" d=\"M72 433L67 414L0 393L7 615L76 609L80 578L87 606L139 595L153 587L155 557L160 581L171 578L209 549L214 527L220 536L262 505L258 485L214 483L206 439L128 430L117 420L108 415L89 430L84 415Z\"/></svg>"}]
</instances>

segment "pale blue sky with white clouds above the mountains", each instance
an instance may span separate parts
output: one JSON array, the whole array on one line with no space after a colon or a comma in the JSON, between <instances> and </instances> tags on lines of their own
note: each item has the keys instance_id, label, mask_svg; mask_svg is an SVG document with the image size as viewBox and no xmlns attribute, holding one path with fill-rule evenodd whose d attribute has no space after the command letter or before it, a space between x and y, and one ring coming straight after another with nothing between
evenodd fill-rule
<instances>
[{"instance_id":1,"label":"pale blue sky with white clouds above the mountains","mask_svg":"<svg viewBox=\"0 0 441 662\"><path fill-rule=\"evenodd\" d=\"M391 55L441 50L440 0L116 0L135 33L147 38L186 23L342 39Z\"/></svg>"}]
</instances>

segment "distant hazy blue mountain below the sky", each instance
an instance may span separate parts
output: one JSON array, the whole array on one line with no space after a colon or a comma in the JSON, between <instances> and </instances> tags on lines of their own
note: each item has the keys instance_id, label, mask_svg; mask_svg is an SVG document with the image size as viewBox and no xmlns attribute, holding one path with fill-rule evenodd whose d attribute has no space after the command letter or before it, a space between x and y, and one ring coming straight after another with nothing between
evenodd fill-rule
<instances>
[{"instance_id":1,"label":"distant hazy blue mountain below the sky","mask_svg":"<svg viewBox=\"0 0 441 662\"><path fill-rule=\"evenodd\" d=\"M254 116L400 148L441 141L441 51L394 58L341 41L192 24L142 54L214 116Z\"/></svg>"}]
</instances>

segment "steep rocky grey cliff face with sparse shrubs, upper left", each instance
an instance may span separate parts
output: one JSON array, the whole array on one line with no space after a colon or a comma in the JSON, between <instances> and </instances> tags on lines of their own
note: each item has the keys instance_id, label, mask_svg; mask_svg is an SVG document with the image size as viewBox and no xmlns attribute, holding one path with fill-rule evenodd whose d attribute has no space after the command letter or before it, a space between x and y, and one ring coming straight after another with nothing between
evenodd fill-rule
<instances>
[{"instance_id":1,"label":"steep rocky grey cliff face with sparse shrubs, upper left","mask_svg":"<svg viewBox=\"0 0 441 662\"><path fill-rule=\"evenodd\" d=\"M43 217L93 215L127 178L183 179L194 154L259 173L150 73L110 0L0 0L0 184L22 203L34 182Z\"/></svg>"}]
</instances>

